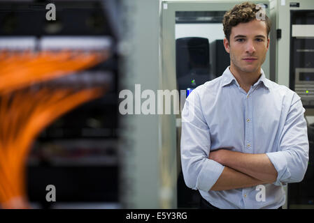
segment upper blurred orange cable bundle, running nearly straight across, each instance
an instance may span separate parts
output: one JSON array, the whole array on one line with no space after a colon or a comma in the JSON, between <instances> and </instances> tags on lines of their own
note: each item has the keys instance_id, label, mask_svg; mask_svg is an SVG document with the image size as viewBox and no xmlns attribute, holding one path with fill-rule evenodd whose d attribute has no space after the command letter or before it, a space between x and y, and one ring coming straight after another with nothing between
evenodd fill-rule
<instances>
[{"instance_id":1,"label":"upper blurred orange cable bundle, running nearly straight across","mask_svg":"<svg viewBox=\"0 0 314 223\"><path fill-rule=\"evenodd\" d=\"M96 52L1 52L0 93L70 75L106 58Z\"/></svg>"}]
</instances>

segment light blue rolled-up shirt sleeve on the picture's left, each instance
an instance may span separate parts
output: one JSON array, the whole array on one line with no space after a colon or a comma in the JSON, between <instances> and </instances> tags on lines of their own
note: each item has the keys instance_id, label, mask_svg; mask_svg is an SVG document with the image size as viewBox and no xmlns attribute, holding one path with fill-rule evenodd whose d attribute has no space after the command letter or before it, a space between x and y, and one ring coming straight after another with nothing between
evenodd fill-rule
<instances>
[{"instance_id":1,"label":"light blue rolled-up shirt sleeve on the picture's left","mask_svg":"<svg viewBox=\"0 0 314 223\"><path fill-rule=\"evenodd\" d=\"M209 160L210 130L194 90L182 112L181 164L185 184L194 190L208 191L220 177L224 166Z\"/></svg>"}]
</instances>

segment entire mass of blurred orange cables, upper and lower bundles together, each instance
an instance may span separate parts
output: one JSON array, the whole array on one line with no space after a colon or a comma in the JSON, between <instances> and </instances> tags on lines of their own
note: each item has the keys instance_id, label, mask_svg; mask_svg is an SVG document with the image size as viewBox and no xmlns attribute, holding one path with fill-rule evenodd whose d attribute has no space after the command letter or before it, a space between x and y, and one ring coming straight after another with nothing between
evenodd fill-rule
<instances>
[{"instance_id":1,"label":"entire mass of blurred orange cables, upper and lower bundles together","mask_svg":"<svg viewBox=\"0 0 314 223\"><path fill-rule=\"evenodd\" d=\"M0 204L31 208L26 161L36 136L50 123L100 97L104 87L59 87L45 83L108 59L102 52L0 52Z\"/></svg>"}]
</instances>

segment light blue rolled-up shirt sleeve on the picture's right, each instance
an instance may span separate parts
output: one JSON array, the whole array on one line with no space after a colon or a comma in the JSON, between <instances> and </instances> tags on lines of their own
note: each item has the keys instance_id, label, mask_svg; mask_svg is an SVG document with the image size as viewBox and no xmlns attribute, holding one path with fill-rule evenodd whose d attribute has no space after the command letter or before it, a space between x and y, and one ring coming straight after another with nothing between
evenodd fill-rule
<instances>
[{"instance_id":1,"label":"light blue rolled-up shirt sleeve on the picture's right","mask_svg":"<svg viewBox=\"0 0 314 223\"><path fill-rule=\"evenodd\" d=\"M294 100L294 101L293 101ZM303 180L308 167L308 133L305 109L299 96L294 95L277 152L266 153L278 172L275 185Z\"/></svg>"}]
</instances>

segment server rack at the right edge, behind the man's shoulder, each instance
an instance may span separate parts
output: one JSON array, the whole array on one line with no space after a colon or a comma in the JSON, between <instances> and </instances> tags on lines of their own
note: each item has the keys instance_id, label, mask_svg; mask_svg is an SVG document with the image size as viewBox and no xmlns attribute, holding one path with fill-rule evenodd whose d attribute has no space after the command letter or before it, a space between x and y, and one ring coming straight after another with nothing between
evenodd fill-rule
<instances>
[{"instance_id":1,"label":"server rack at the right edge, behind the man's shoulder","mask_svg":"<svg viewBox=\"0 0 314 223\"><path fill-rule=\"evenodd\" d=\"M273 79L283 84L300 97L308 122L310 144L309 162L304 180L290 183L285 187L287 201L285 208L313 208L313 1L271 1L271 19L273 21L273 48L271 68Z\"/></svg>"}]
</instances>

